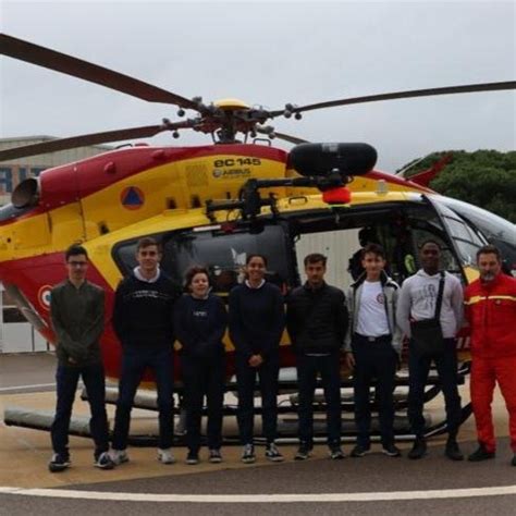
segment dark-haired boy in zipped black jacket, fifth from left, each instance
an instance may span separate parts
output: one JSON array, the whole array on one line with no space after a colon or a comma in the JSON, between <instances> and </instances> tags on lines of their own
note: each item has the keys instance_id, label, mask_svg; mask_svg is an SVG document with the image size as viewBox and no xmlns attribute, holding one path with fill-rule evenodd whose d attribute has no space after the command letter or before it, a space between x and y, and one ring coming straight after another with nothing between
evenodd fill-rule
<instances>
[{"instance_id":1,"label":"dark-haired boy in zipped black jacket, fifth from left","mask_svg":"<svg viewBox=\"0 0 516 516\"><path fill-rule=\"evenodd\" d=\"M324 282L327 257L305 257L307 282L287 298L286 327L297 358L299 385L299 450L297 460L308 458L314 441L314 393L321 376L327 403L330 457L344 457L341 450L340 352L348 316L344 293Z\"/></svg>"}]
</instances>

